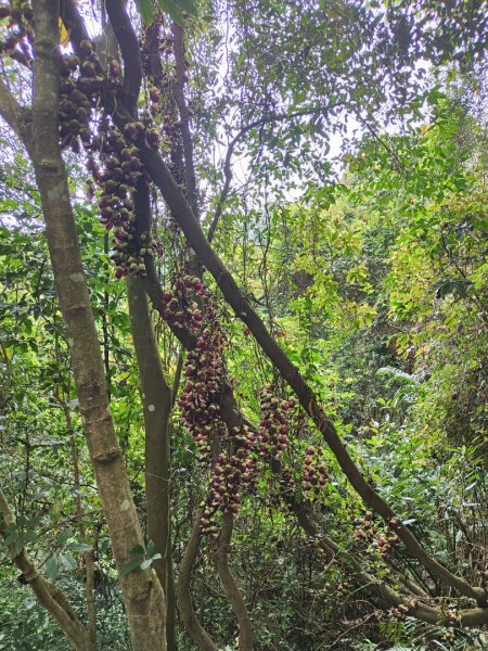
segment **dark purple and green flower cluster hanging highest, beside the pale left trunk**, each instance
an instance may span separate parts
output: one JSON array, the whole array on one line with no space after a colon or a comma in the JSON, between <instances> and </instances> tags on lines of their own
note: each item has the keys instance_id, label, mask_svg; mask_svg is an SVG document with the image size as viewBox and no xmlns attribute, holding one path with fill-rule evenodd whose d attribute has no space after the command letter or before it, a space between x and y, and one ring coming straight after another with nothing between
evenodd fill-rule
<instances>
[{"instance_id":1,"label":"dark purple and green flower cluster hanging highest, beside the pale left trunk","mask_svg":"<svg viewBox=\"0 0 488 651\"><path fill-rule=\"evenodd\" d=\"M88 154L87 167L101 189L100 222L114 233L111 258L115 277L145 275L144 256L153 254L153 244L149 232L136 229L132 193L144 170L133 141L143 135L146 145L155 149L158 135L142 123L128 123L123 133L103 112L97 124L101 92L106 86L118 86L120 71L111 60L104 75L89 40L80 42L79 51L81 59L67 54L61 62L61 145L77 152L81 141Z\"/></svg>"}]
</instances>

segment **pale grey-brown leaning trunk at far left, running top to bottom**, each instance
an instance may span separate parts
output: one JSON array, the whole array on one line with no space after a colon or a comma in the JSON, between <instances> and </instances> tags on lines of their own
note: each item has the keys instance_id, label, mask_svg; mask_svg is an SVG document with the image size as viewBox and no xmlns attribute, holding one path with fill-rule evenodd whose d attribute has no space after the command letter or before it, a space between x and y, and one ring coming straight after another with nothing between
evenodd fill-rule
<instances>
[{"instance_id":1,"label":"pale grey-brown leaning trunk at far left, running top to bottom","mask_svg":"<svg viewBox=\"0 0 488 651\"><path fill-rule=\"evenodd\" d=\"M88 449L117 567L143 545L129 481L107 403L103 360L82 269L66 171L57 140L59 2L36 0L33 163L41 195L51 264L66 324ZM165 599L154 571L121 578L134 650L166 650Z\"/></svg>"}]
</instances>

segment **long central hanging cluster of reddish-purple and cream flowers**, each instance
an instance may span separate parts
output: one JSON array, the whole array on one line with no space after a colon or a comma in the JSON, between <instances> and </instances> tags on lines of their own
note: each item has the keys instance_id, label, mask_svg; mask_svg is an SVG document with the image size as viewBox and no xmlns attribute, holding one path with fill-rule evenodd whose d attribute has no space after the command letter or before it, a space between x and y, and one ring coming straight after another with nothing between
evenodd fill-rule
<instances>
[{"instance_id":1,"label":"long central hanging cluster of reddish-purple and cream flowers","mask_svg":"<svg viewBox=\"0 0 488 651\"><path fill-rule=\"evenodd\" d=\"M245 425L229 431L220 416L227 341L215 297L198 278L187 275L178 279L174 290L163 294L163 299L165 321L185 327L196 335L195 347L183 366L184 386L178 405L197 446L201 465L210 469L201 527L204 534L214 534L218 529L218 513L236 513L240 493L253 485L257 436Z\"/></svg>"}]
</instances>

